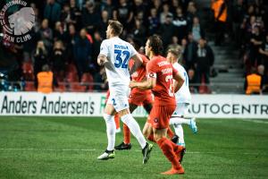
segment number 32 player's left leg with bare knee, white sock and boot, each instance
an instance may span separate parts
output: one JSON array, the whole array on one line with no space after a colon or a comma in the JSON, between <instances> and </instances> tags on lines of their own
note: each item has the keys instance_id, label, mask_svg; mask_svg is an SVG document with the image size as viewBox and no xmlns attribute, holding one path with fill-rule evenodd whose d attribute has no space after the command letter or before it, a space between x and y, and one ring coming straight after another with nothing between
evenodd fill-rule
<instances>
[{"instance_id":1,"label":"number 32 player's left leg with bare knee, white sock and boot","mask_svg":"<svg viewBox=\"0 0 268 179\"><path fill-rule=\"evenodd\" d=\"M107 146L107 149L105 149L105 152L102 155L100 155L97 159L105 160L105 159L114 158L114 151L113 151L114 142L115 142L114 113L115 113L115 110L113 108L113 105L107 103L105 106L104 118L105 118L105 124L106 124L108 146Z\"/></svg>"}]
</instances>

